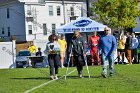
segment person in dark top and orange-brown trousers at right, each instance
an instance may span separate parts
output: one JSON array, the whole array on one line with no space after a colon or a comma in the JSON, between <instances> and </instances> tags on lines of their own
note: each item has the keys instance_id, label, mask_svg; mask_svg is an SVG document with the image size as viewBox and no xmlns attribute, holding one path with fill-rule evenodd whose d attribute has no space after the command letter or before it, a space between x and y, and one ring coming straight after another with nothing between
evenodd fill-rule
<instances>
[{"instance_id":1,"label":"person in dark top and orange-brown trousers at right","mask_svg":"<svg viewBox=\"0 0 140 93\"><path fill-rule=\"evenodd\" d=\"M125 43L125 56L129 64L132 64L131 48L132 48L132 37L129 32L126 32L126 43ZM128 64L128 65L129 65Z\"/></svg>"}]
</instances>

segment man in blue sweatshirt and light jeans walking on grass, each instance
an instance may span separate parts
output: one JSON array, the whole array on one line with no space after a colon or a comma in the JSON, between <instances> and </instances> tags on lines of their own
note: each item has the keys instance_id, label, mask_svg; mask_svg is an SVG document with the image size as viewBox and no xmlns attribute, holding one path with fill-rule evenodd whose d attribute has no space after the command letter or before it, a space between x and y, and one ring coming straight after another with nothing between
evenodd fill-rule
<instances>
[{"instance_id":1,"label":"man in blue sweatshirt and light jeans walking on grass","mask_svg":"<svg viewBox=\"0 0 140 93\"><path fill-rule=\"evenodd\" d=\"M98 49L101 50L101 62L103 65L102 76L107 77L107 66L109 64L110 76L114 73L114 54L117 48L116 38L111 35L111 29L104 28L104 34L98 43Z\"/></svg>"}]
</instances>

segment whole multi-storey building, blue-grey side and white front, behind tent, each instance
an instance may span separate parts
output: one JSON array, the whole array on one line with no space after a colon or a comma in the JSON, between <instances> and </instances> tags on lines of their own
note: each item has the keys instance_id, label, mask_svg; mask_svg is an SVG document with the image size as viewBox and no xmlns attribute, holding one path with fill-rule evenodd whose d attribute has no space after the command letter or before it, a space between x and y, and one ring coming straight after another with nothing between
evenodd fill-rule
<instances>
[{"instance_id":1,"label":"whole multi-storey building, blue-grey side and white front, behind tent","mask_svg":"<svg viewBox=\"0 0 140 93\"><path fill-rule=\"evenodd\" d=\"M1 0L0 37L9 41L47 39L48 35L72 18L86 16L86 4L67 0Z\"/></svg>"}]
</instances>

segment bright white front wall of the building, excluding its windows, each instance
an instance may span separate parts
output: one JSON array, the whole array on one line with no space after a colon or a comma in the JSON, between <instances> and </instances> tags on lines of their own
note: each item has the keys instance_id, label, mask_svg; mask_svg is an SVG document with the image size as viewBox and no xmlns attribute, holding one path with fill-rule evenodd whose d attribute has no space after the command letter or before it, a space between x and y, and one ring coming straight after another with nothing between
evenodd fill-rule
<instances>
[{"instance_id":1,"label":"bright white front wall of the building, excluding its windows","mask_svg":"<svg viewBox=\"0 0 140 93\"><path fill-rule=\"evenodd\" d=\"M52 24L55 24L56 28L64 24L64 13L63 13L63 5L61 3L46 3L43 5L31 5L32 14L29 16L27 14L27 7L30 4L25 4L25 15L26 17L33 17L33 21L26 21L26 34L27 40L31 41L34 39L46 39L48 35L52 33ZM65 23L70 22L70 7L74 7L74 16L81 16L81 7L83 3L78 4L65 4ZM53 16L49 15L49 6L53 6ZM57 16L57 6L60 6L61 14ZM47 35L43 35L43 24L47 25ZM28 25L32 25L33 35L29 35Z\"/></svg>"}]
</instances>

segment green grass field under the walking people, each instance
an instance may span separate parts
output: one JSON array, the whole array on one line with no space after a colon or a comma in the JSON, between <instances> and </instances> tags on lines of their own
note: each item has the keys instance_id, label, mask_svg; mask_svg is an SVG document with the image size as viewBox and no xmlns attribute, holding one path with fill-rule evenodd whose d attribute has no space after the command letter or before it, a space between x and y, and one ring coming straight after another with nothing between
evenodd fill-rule
<instances>
[{"instance_id":1,"label":"green grass field under the walking people","mask_svg":"<svg viewBox=\"0 0 140 93\"><path fill-rule=\"evenodd\" d=\"M74 69L70 67L69 72ZM0 93L28 93L41 84L29 93L140 93L139 64L115 65L114 76L107 78L101 77L101 66L90 66L89 70L91 78L84 67L84 78L78 78L75 71L65 80L66 68L60 68L61 79L50 82L48 68L1 69Z\"/></svg>"}]
</instances>

